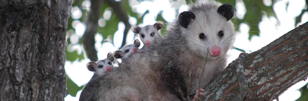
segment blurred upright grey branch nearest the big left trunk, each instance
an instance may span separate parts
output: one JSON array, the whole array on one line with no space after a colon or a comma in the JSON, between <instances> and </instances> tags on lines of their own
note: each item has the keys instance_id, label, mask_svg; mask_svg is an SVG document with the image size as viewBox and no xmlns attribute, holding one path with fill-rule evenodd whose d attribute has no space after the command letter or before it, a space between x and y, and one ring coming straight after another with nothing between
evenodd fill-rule
<instances>
[{"instance_id":1,"label":"blurred upright grey branch nearest the big left trunk","mask_svg":"<svg viewBox=\"0 0 308 101\"><path fill-rule=\"evenodd\" d=\"M102 2L103 0L91 0L91 7L86 20L87 28L82 38L84 50L91 61L97 61L98 59L94 36L97 33L97 23Z\"/></svg>"}]
</instances>

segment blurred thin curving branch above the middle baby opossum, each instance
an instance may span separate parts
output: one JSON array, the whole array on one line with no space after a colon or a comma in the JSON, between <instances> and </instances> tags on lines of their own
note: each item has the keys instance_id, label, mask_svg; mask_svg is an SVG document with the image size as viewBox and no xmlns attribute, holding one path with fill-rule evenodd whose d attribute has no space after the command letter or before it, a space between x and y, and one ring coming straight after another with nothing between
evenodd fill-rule
<instances>
[{"instance_id":1,"label":"blurred thin curving branch above the middle baby opossum","mask_svg":"<svg viewBox=\"0 0 308 101\"><path fill-rule=\"evenodd\" d=\"M128 22L128 16L126 14L126 11L123 9L123 7L121 5L122 1L116 2L115 0L106 0L106 2L112 8L114 13L119 18L119 20L122 21L125 25L123 41L122 41L122 45L120 47L120 48L122 48L126 43L127 34L128 34L129 29L131 28L131 25Z\"/></svg>"}]
</instances>

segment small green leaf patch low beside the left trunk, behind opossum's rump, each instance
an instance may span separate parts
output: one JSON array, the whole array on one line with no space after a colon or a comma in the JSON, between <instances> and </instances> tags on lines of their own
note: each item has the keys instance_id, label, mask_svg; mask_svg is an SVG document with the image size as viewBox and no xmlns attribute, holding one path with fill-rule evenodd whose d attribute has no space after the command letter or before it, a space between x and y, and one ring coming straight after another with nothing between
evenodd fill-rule
<instances>
[{"instance_id":1,"label":"small green leaf patch low beside the left trunk, behind opossum's rump","mask_svg":"<svg viewBox=\"0 0 308 101\"><path fill-rule=\"evenodd\" d=\"M67 91L71 96L76 97L77 92L80 91L83 87L79 87L76 83L74 83L70 77L66 76L66 87Z\"/></svg>"}]
</instances>

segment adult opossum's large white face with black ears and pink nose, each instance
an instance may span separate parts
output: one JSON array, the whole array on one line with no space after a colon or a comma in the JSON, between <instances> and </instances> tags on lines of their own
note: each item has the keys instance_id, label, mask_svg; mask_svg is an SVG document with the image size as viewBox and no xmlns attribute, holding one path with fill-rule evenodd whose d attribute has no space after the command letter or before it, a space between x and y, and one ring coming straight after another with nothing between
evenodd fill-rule
<instances>
[{"instance_id":1,"label":"adult opossum's large white face with black ears and pink nose","mask_svg":"<svg viewBox=\"0 0 308 101\"><path fill-rule=\"evenodd\" d=\"M226 55L234 39L234 26L230 19L234 10L230 4L198 1L188 11L179 14L178 21L188 46L209 59Z\"/></svg>"}]
</instances>

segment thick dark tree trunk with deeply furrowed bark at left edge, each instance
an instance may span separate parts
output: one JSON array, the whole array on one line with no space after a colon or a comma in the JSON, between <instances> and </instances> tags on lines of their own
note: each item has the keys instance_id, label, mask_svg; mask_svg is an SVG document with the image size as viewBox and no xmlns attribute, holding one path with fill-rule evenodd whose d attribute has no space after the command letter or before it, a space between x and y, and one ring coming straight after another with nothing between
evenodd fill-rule
<instances>
[{"instance_id":1,"label":"thick dark tree trunk with deeply furrowed bark at left edge","mask_svg":"<svg viewBox=\"0 0 308 101\"><path fill-rule=\"evenodd\" d=\"M71 0L0 0L0 101L63 101Z\"/></svg>"}]
</instances>

